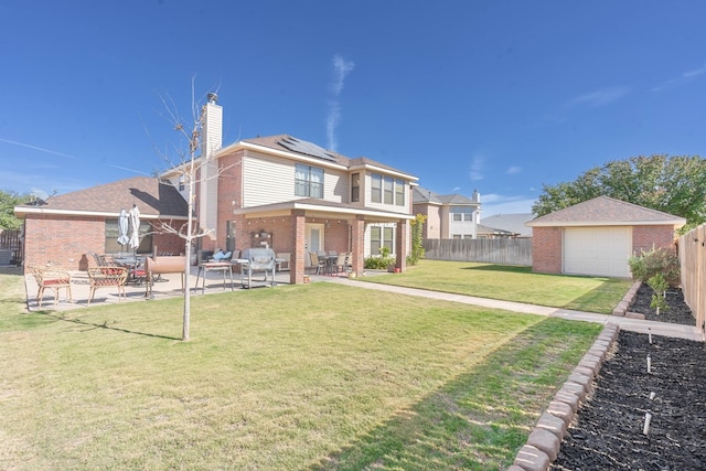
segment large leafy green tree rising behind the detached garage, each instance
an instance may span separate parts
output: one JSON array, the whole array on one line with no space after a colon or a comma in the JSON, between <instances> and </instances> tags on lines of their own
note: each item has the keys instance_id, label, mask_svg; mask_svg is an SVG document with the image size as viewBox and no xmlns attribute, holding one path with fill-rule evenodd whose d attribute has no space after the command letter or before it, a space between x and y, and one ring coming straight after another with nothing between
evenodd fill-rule
<instances>
[{"instance_id":1,"label":"large leafy green tree rising behind the detached garage","mask_svg":"<svg viewBox=\"0 0 706 471\"><path fill-rule=\"evenodd\" d=\"M543 185L532 211L543 216L606 195L686 218L684 231L706 222L706 159L631 157L596 167L574 182Z\"/></svg>"}]
</instances>

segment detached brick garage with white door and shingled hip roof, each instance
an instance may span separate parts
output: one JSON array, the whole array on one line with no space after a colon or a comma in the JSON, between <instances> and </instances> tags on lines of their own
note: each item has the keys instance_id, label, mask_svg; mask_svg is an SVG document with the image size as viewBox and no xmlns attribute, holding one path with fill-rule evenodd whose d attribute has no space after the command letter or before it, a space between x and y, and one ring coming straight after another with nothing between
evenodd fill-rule
<instances>
[{"instance_id":1,"label":"detached brick garage with white door and shingled hip roof","mask_svg":"<svg viewBox=\"0 0 706 471\"><path fill-rule=\"evenodd\" d=\"M628 260L652 247L674 247L683 217L599 196L526 225L532 228L532 269L629 278Z\"/></svg>"}]
</instances>

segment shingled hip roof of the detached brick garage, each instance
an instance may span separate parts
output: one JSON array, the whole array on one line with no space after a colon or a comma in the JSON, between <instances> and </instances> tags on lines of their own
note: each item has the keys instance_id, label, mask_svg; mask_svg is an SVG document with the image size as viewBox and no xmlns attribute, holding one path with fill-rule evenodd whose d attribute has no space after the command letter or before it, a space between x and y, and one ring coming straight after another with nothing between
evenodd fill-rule
<instances>
[{"instance_id":1,"label":"shingled hip roof of the detached brick garage","mask_svg":"<svg viewBox=\"0 0 706 471\"><path fill-rule=\"evenodd\" d=\"M555 226L683 226L684 217L650 210L610 196L598 196L525 223L527 227Z\"/></svg>"}]
</instances>

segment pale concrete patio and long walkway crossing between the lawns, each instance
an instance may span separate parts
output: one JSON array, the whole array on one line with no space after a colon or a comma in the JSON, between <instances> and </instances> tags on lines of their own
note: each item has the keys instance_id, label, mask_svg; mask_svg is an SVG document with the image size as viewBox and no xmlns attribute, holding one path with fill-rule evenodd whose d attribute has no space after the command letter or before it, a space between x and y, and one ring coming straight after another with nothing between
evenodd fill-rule
<instances>
[{"instance_id":1,"label":"pale concrete patio and long walkway crossing between the lawns","mask_svg":"<svg viewBox=\"0 0 706 471\"><path fill-rule=\"evenodd\" d=\"M196 288L197 268L193 267L189 276L189 286L192 289L194 296L202 296L202 282L203 278L199 281ZM233 275L234 283L231 285L229 278L226 279L225 286L223 282L223 276L220 272L208 272L206 276L204 295L231 291L240 291L240 277L239 275ZM36 283L31 275L25 275L25 289L28 310L40 310L36 302ZM289 272L277 274L277 283L289 283ZM646 321L640 319L631 319L619 315L597 314L592 312L571 311L568 309L547 308L544 306L524 304L513 301L500 301L486 298L477 298L472 296L453 295L439 291L429 291L424 289L404 288L391 285L378 285L374 282L365 282L360 280L351 280L343 277L330 277L330 276L311 276L312 282L333 282L339 285L352 286L356 288L364 288L378 291L397 292L400 295L416 296L428 299L437 299L442 301L460 302L464 304L480 306L489 309L503 309L512 312L520 312L526 314L546 315L553 318L561 318L574 321L595 322L600 324L618 324L621 329L648 333L652 332L655 335L666 335L681 339L704 341L704 336L696 329L696 327L673 324L666 322ZM233 286L233 288L232 288ZM255 288L258 289L258 288ZM44 293L44 300L41 310L56 310L66 311L71 309L86 308L89 297L89 283L88 276L85 271L72 272L72 298L73 302L64 295L62 290L58 302L54 306L54 293L52 290L46 290ZM115 288L99 288L96 290L96 295L90 306L113 304L116 302L130 302L130 301L146 301L145 285L129 285L126 287L127 299L120 300L118 298L117 290ZM181 291L181 276L180 275L164 275L162 281L156 282L153 286L153 299L165 299L182 296Z\"/></svg>"}]
</instances>

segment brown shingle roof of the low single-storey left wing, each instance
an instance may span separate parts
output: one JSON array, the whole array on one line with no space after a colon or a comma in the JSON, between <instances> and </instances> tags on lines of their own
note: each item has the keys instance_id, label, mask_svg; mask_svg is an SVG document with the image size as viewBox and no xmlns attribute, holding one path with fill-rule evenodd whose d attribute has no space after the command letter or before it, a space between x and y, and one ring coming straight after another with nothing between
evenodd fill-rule
<instances>
[{"instance_id":1,"label":"brown shingle roof of the low single-storey left wing","mask_svg":"<svg viewBox=\"0 0 706 471\"><path fill-rule=\"evenodd\" d=\"M61 211L66 214L110 214L121 208L130 210L137 204L143 216L176 216L186 218L189 207L179 191L170 184L161 183L154 176L133 176L105 185L92 186L50 197L40 206L18 206L23 210Z\"/></svg>"}]
</instances>

